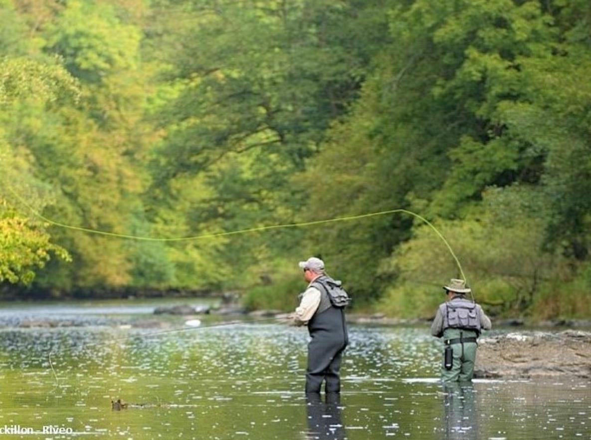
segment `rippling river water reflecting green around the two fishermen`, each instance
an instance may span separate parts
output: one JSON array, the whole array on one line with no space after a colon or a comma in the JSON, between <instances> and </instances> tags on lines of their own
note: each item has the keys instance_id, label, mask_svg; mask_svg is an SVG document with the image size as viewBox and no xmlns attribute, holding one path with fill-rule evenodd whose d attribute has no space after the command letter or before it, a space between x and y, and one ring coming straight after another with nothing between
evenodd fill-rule
<instances>
[{"instance_id":1,"label":"rippling river water reflecting green around the two fishermen","mask_svg":"<svg viewBox=\"0 0 591 440\"><path fill-rule=\"evenodd\" d=\"M427 326L351 326L343 392L318 400L303 393L305 329L268 321L220 325L213 317L191 328L176 316L161 319L166 331L138 328L142 320L154 323L153 307L2 308L0 437L591 438L589 383L564 378L442 386L439 342ZM15 326L41 318L78 326ZM171 331L177 328L183 331ZM145 405L113 411L112 399ZM72 432L7 435L4 426Z\"/></svg>"}]
</instances>

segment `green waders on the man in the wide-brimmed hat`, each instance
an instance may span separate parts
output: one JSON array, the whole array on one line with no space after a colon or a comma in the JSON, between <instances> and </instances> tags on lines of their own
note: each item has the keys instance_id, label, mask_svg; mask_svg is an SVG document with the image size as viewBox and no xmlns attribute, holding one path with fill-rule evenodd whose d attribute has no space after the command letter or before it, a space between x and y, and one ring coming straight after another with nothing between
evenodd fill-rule
<instances>
[{"instance_id":1,"label":"green waders on the man in the wide-brimmed hat","mask_svg":"<svg viewBox=\"0 0 591 440\"><path fill-rule=\"evenodd\" d=\"M476 338L478 336L473 330L460 330L457 328L446 328L443 331L443 342L449 339ZM456 342L450 345L453 350L453 365L451 370L446 370L441 361L441 380L446 382L465 382L472 380L474 376L474 363L476 362L476 342ZM443 359L443 356L441 357Z\"/></svg>"}]
</instances>

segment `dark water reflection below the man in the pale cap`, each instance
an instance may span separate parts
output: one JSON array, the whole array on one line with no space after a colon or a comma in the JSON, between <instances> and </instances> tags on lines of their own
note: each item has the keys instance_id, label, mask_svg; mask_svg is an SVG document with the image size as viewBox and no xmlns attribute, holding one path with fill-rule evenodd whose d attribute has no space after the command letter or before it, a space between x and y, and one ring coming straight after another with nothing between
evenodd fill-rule
<instances>
[{"instance_id":1,"label":"dark water reflection below the man in the pale cap","mask_svg":"<svg viewBox=\"0 0 591 440\"><path fill-rule=\"evenodd\" d=\"M306 394L308 416L307 439L345 438L339 393L326 393L324 402L319 393Z\"/></svg>"}]
</instances>

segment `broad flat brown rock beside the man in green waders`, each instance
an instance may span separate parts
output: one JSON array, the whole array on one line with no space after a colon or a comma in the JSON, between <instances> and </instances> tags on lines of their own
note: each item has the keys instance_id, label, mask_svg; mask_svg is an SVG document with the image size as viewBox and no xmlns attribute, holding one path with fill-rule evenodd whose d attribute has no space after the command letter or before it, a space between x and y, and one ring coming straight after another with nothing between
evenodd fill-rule
<instances>
[{"instance_id":1,"label":"broad flat brown rock beside the man in green waders","mask_svg":"<svg viewBox=\"0 0 591 440\"><path fill-rule=\"evenodd\" d=\"M591 378L591 332L514 332L478 344L475 377Z\"/></svg>"}]
</instances>

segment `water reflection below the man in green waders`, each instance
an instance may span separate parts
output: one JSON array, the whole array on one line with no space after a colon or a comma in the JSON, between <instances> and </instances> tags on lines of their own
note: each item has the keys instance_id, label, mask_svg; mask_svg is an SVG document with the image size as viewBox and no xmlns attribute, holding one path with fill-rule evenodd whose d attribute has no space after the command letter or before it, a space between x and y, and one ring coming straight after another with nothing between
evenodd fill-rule
<instances>
[{"instance_id":1,"label":"water reflection below the man in green waders","mask_svg":"<svg viewBox=\"0 0 591 440\"><path fill-rule=\"evenodd\" d=\"M443 383L443 393L444 439L479 439L474 384Z\"/></svg>"}]
</instances>

